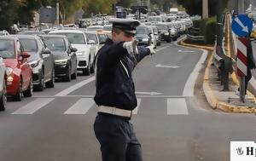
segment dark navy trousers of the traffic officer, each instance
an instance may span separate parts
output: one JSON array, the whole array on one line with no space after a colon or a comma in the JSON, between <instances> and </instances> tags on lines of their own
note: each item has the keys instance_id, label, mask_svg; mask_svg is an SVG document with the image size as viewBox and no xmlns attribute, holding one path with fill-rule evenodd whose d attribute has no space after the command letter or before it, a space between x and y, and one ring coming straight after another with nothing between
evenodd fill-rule
<instances>
[{"instance_id":1,"label":"dark navy trousers of the traffic officer","mask_svg":"<svg viewBox=\"0 0 256 161\"><path fill-rule=\"evenodd\" d=\"M94 131L101 144L102 161L143 161L141 144L128 120L98 114Z\"/></svg>"}]
</instances>

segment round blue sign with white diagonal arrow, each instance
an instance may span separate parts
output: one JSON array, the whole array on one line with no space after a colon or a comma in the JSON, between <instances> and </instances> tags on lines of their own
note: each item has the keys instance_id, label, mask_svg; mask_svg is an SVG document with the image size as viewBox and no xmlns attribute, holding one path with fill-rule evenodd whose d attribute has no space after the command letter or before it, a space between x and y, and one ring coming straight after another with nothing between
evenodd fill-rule
<instances>
[{"instance_id":1,"label":"round blue sign with white diagonal arrow","mask_svg":"<svg viewBox=\"0 0 256 161\"><path fill-rule=\"evenodd\" d=\"M248 36L253 30L253 21L245 14L239 14L232 20L232 30L239 37Z\"/></svg>"}]
</instances>

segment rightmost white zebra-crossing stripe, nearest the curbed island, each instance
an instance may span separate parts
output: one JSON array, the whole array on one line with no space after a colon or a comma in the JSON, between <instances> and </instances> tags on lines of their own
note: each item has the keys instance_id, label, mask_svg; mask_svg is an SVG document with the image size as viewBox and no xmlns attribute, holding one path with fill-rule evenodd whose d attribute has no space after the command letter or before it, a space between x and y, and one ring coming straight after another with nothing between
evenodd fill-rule
<instances>
[{"instance_id":1,"label":"rightmost white zebra-crossing stripe, nearest the curbed island","mask_svg":"<svg viewBox=\"0 0 256 161\"><path fill-rule=\"evenodd\" d=\"M183 98L167 99L167 114L168 115L188 115L188 107L186 100Z\"/></svg>"}]
</instances>

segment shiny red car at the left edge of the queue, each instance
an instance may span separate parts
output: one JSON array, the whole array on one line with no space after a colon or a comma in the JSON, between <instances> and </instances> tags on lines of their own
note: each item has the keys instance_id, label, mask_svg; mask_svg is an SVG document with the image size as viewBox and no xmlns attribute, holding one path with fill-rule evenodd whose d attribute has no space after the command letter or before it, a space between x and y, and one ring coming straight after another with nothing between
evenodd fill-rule
<instances>
[{"instance_id":1,"label":"shiny red car at the left edge of the queue","mask_svg":"<svg viewBox=\"0 0 256 161\"><path fill-rule=\"evenodd\" d=\"M0 55L6 66L7 95L21 101L22 95L32 96L32 67L28 64L30 56L24 52L17 37L0 37Z\"/></svg>"}]
</instances>

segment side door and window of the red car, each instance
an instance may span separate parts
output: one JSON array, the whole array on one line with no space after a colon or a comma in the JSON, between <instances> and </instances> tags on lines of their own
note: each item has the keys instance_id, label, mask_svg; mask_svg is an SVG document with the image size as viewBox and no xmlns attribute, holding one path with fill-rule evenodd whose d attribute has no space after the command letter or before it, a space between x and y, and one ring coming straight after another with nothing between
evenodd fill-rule
<instances>
[{"instance_id":1,"label":"side door and window of the red car","mask_svg":"<svg viewBox=\"0 0 256 161\"><path fill-rule=\"evenodd\" d=\"M22 90L26 90L32 80L32 69L31 66L28 64L27 59L23 59L20 55L24 52L24 49L19 40L16 41L16 50L18 56L18 63L21 70L21 77L22 77Z\"/></svg>"}]
</instances>

